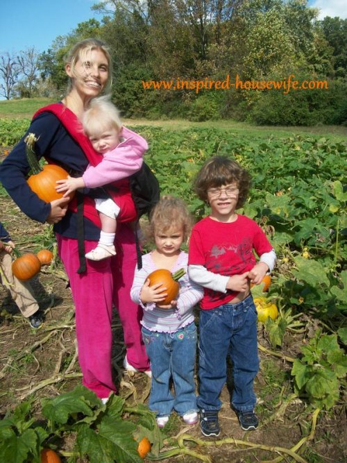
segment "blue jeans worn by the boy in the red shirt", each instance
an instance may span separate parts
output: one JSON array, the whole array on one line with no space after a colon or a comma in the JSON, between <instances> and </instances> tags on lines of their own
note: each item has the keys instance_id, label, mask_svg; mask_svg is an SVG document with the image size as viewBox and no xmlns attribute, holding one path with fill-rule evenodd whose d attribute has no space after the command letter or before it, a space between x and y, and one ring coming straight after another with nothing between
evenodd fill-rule
<instances>
[{"instance_id":1,"label":"blue jeans worn by the boy in the red shirt","mask_svg":"<svg viewBox=\"0 0 347 463\"><path fill-rule=\"evenodd\" d=\"M198 407L220 410L219 394L226 383L226 357L232 360L234 389L231 404L236 410L253 410L253 380L259 369L257 311L252 296L237 304L200 311Z\"/></svg>"}]
</instances>

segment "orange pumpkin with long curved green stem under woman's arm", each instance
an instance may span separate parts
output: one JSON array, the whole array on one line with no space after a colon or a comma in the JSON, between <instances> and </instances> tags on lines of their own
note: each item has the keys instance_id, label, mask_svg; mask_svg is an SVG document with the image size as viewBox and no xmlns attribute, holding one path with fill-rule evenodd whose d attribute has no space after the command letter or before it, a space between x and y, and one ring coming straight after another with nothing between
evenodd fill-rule
<instances>
[{"instance_id":1,"label":"orange pumpkin with long curved green stem under woman's arm","mask_svg":"<svg viewBox=\"0 0 347 463\"><path fill-rule=\"evenodd\" d=\"M34 149L37 140L34 133L29 133L24 140L26 143L26 158L28 159L28 165L31 167L32 173L27 183L29 187L31 187L31 190L33 190L42 201L50 203L51 201L62 198L64 193L58 193L56 191L56 181L65 180L69 174L65 169L54 164L47 164L43 167L40 166L37 162ZM70 194L69 198L72 199L73 196L74 194Z\"/></svg>"}]
</instances>

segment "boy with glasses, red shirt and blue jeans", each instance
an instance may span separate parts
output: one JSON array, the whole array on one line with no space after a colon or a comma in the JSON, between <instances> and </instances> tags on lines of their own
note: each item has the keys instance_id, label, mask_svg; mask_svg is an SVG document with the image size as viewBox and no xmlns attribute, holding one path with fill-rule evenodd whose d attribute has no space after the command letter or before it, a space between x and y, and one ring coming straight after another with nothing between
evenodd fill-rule
<instances>
[{"instance_id":1,"label":"boy with glasses, red shirt and blue jeans","mask_svg":"<svg viewBox=\"0 0 347 463\"><path fill-rule=\"evenodd\" d=\"M250 284L259 285L273 269L276 254L255 221L235 212L246 201L250 176L237 162L210 158L198 172L195 190L210 204L208 217L192 230L189 277L204 287L201 301L197 404L201 432L220 433L219 394L226 382L226 357L232 360L232 408L243 430L258 426L253 380L259 369L257 312ZM256 263L253 249L260 257Z\"/></svg>"}]
</instances>

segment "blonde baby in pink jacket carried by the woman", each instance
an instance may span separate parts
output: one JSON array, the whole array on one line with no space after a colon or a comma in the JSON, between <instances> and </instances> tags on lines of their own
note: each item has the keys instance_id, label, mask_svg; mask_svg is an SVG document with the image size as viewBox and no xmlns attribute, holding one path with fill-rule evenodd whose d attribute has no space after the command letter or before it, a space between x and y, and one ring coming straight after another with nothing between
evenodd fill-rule
<instances>
[{"instance_id":1,"label":"blonde baby in pink jacket carried by the woman","mask_svg":"<svg viewBox=\"0 0 347 463\"><path fill-rule=\"evenodd\" d=\"M143 150L137 152L136 144L147 148L146 141L142 137L122 128L119 111L107 96L92 99L90 106L83 114L82 123L85 135L89 138L94 150L103 156L103 160L97 166L88 165L81 177L69 176L66 180L58 180L56 190L65 192L64 196L69 196L78 188L101 187L130 176L142 166ZM125 138L121 135L130 135L132 150L124 149L122 145L124 145ZM85 254L87 259L103 260L116 254L114 245L117 230L116 219L119 217L121 220L121 213L129 208L129 203L132 201L128 188L125 193L122 187L119 188L117 203L111 198L95 199L96 210L99 211L101 220L101 233L96 248Z\"/></svg>"}]
</instances>

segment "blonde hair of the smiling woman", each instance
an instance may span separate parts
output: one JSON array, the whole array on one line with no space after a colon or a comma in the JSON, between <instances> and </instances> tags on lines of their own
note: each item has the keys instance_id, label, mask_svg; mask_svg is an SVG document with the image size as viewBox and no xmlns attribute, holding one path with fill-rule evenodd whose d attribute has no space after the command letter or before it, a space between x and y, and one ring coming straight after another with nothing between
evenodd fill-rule
<instances>
[{"instance_id":1,"label":"blonde hair of the smiling woman","mask_svg":"<svg viewBox=\"0 0 347 463\"><path fill-rule=\"evenodd\" d=\"M102 51L106 60L108 61L108 81L103 89L104 93L108 93L110 92L112 86L112 58L107 45L105 42L102 42L102 40L91 38L77 42L65 56L65 65L70 65L72 74L75 74L75 67L78 60L85 61L87 55L93 50ZM69 94L71 89L72 81L71 78L69 78L67 84L67 94Z\"/></svg>"}]
</instances>

